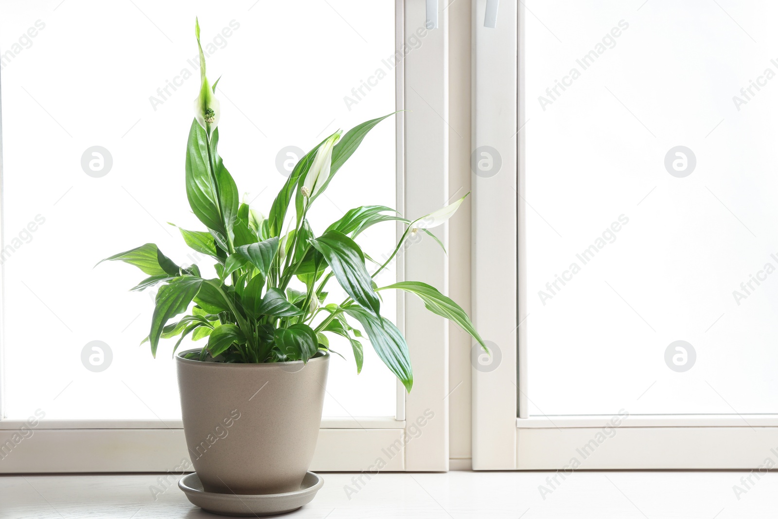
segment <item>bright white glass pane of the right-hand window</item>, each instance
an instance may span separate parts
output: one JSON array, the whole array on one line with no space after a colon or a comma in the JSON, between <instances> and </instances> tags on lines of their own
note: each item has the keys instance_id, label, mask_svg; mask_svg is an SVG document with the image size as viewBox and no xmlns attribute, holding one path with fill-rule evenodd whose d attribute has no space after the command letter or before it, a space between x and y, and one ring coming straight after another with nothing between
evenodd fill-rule
<instances>
[{"instance_id":1,"label":"bright white glass pane of the right-hand window","mask_svg":"<svg viewBox=\"0 0 778 519\"><path fill-rule=\"evenodd\" d=\"M778 5L528 7L531 414L778 412Z\"/></svg>"}]
</instances>

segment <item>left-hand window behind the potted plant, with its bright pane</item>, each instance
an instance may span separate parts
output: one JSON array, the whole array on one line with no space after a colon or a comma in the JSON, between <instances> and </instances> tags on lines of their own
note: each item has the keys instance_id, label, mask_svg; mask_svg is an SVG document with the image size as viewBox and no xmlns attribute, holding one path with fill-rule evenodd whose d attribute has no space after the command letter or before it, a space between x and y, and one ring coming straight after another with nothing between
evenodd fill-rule
<instances>
[{"instance_id":1,"label":"left-hand window behind the potted plant, with its bright pane","mask_svg":"<svg viewBox=\"0 0 778 519\"><path fill-rule=\"evenodd\" d=\"M300 7L306 16L298 16ZM221 152L257 209L269 207L303 149L338 128L403 107L408 64L418 62L419 70L428 71L425 61L442 66L443 46L409 47L406 24L413 32L425 18L414 12L406 20L402 2L4 4L0 427L13 429L29 416L45 415L38 454L30 449L25 462L17 456L17 468L166 470L184 452L172 344L162 345L157 359L148 344L139 344L154 294L127 292L140 279L127 265L93 265L147 241L180 263L198 262L168 224L202 227L183 190L184 141L198 82L196 15L209 75L215 79L223 72L217 90ZM443 41L443 35L429 33L428 40ZM440 104L434 96L426 102ZM312 220L333 221L355 200L423 214L426 206L405 203L402 157L413 149L405 148L404 132L427 131L426 110L408 121L408 130L403 116L375 128ZM430 135L435 132L443 132L442 123ZM442 163L444 150L439 152L430 160ZM396 229L384 224L364 234L363 247L378 259L396 240ZM414 261L412 254L404 260L384 274L385 281L401 279ZM387 316L402 325L404 298L382 296ZM409 343L412 321L405 323ZM350 347L339 346L333 349L349 358ZM320 449L320 469L366 468L363 461L372 463L373 452L402 433L413 397L398 391L370 348L363 373L357 376L350 359L338 359L329 380L321 443L340 447ZM107 463L86 454L77 461L42 459L46 442L72 438L67 433L74 428L92 430L79 433L76 452L79 445L89 451L101 442L121 444L143 429L163 431L163 445L172 445L175 454L165 461L149 452L132 462L126 461L128 452ZM170 430L178 432L171 436ZM345 440L331 441L327 435L338 430ZM352 431L363 436L351 437ZM361 454L344 454L349 442ZM168 458L176 462L168 464ZM405 467L405 460L394 463L395 470ZM0 471L13 468L5 463Z\"/></svg>"}]
</instances>

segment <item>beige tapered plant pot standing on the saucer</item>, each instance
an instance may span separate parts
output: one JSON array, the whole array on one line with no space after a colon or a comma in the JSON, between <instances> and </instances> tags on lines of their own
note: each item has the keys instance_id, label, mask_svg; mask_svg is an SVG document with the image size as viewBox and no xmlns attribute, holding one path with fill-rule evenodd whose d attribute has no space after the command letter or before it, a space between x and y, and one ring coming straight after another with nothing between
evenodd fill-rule
<instances>
[{"instance_id":1,"label":"beige tapered plant pot standing on the saucer","mask_svg":"<svg viewBox=\"0 0 778 519\"><path fill-rule=\"evenodd\" d=\"M307 364L227 364L186 353L176 356L184 435L205 491L299 490L319 435L329 354Z\"/></svg>"}]
</instances>

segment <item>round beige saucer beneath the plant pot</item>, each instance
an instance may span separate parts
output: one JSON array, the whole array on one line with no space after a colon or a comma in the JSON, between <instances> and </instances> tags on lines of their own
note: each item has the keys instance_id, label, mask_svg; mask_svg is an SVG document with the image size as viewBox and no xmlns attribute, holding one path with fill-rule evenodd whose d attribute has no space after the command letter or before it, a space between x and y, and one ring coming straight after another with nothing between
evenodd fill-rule
<instances>
[{"instance_id":1,"label":"round beige saucer beneath the plant pot","mask_svg":"<svg viewBox=\"0 0 778 519\"><path fill-rule=\"evenodd\" d=\"M314 472L307 472L300 490L280 494L220 494L205 492L197 472L185 475L178 481L178 488L184 491L195 506L219 515L233 517L257 517L286 514L310 503L324 485L324 479Z\"/></svg>"}]
</instances>

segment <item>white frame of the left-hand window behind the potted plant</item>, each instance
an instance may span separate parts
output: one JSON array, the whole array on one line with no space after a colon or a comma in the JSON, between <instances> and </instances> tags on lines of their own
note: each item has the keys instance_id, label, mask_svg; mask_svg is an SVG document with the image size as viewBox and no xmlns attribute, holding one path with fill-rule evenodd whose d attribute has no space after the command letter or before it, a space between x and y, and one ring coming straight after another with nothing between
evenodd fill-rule
<instances>
[{"instance_id":1,"label":"white frame of the left-hand window behind the potted plant","mask_svg":"<svg viewBox=\"0 0 778 519\"><path fill-rule=\"evenodd\" d=\"M426 26L428 4L437 2L396 0L398 51L412 33ZM395 69L397 108L408 110L396 116L397 207L411 217L439 209L448 198L448 19L442 6L438 6L437 19L436 28L426 33L423 44L410 51ZM0 182L2 174L0 139ZM398 239L401 232L398 225ZM447 229L439 227L434 232L447 243ZM447 265L446 255L433 240L422 240L398 261L398 278L407 275L424 280L446 293ZM0 305L5 308L2 295ZM404 330L411 354L413 391L406 394L398 382L394 417L322 419L312 470L372 472L379 458L386 464L384 471L448 470L447 323L427 313L410 296L406 300L405 293L398 293L398 328ZM2 344L0 340L0 377L6 367ZM24 425L21 420L2 419L2 382L0 444ZM429 412L434 413L432 419ZM422 427L414 425L425 417ZM33 428L32 437L0 459L0 474L172 471L189 458L182 423L167 425L170 427L158 420L42 420ZM411 426L414 428L407 431ZM386 454L398 447L401 455Z\"/></svg>"}]
</instances>

